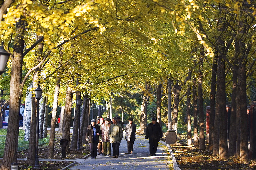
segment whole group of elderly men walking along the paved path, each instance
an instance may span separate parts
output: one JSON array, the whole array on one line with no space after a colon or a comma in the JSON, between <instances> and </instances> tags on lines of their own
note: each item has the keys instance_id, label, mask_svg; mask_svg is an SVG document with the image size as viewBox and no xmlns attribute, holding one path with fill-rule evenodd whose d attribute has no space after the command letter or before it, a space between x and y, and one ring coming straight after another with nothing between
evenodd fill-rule
<instances>
[{"instance_id":1,"label":"whole group of elderly men walking along the paved path","mask_svg":"<svg viewBox=\"0 0 256 170\"><path fill-rule=\"evenodd\" d=\"M119 148L123 139L123 130L125 130L125 139L127 141L127 154L133 153L133 145L135 141L136 125L133 118L129 118L129 123L125 128L120 117L97 118L91 120L91 124L87 127L86 140L90 145L91 158L96 158L97 154L102 156L111 156L111 143L113 157L119 157ZM98 122L98 124L96 124ZM104 123L103 123L104 122ZM152 119L152 123L148 124L146 131L146 139L150 143L150 155L156 155L158 141L162 138L162 128L156 119Z\"/></svg>"}]
</instances>

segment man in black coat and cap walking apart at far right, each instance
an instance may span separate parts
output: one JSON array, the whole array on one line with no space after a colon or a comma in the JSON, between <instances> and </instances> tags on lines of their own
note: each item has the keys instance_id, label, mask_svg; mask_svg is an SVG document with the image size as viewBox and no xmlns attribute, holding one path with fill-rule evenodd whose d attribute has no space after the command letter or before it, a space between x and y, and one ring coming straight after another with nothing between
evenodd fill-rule
<instances>
[{"instance_id":1,"label":"man in black coat and cap walking apart at far right","mask_svg":"<svg viewBox=\"0 0 256 170\"><path fill-rule=\"evenodd\" d=\"M148 124L146 130L146 139L149 140L150 156L156 155L157 145L162 137L162 128L160 127L159 123L156 122L156 118L152 118L152 123Z\"/></svg>"}]
</instances>

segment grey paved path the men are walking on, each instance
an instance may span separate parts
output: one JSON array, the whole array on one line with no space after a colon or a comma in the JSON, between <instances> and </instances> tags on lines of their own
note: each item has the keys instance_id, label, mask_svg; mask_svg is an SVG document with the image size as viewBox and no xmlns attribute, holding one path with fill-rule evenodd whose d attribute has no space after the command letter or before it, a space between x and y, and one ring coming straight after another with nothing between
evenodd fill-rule
<instances>
[{"instance_id":1,"label":"grey paved path the men are walking on","mask_svg":"<svg viewBox=\"0 0 256 170\"><path fill-rule=\"evenodd\" d=\"M89 156L86 159L76 160L78 164L70 167L70 170L167 170L172 167L172 163L166 161L167 158L170 158L170 154L166 146L160 142L158 143L156 156L149 155L148 140L138 137L136 137L136 141L134 141L133 154L127 154L126 140L122 140L120 144L118 158L113 158L112 153L111 148L111 156L97 155L96 159L92 159L91 156Z\"/></svg>"}]
</instances>

